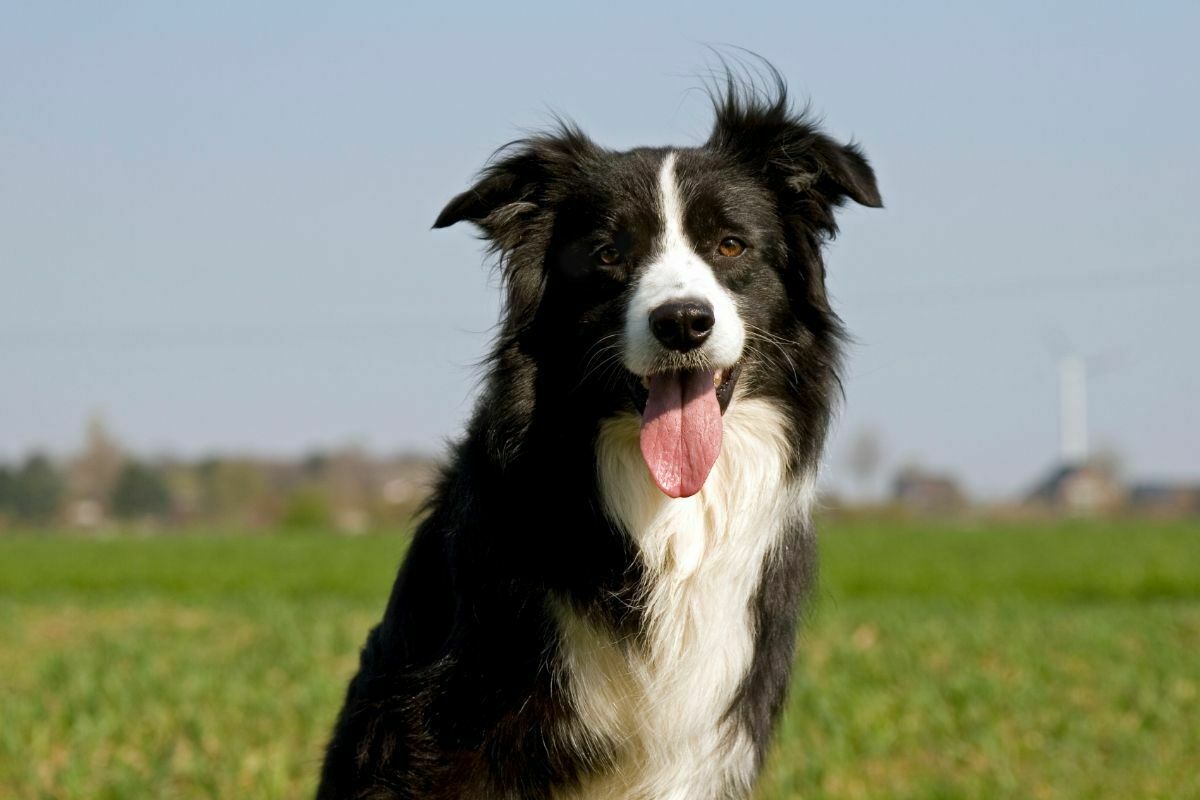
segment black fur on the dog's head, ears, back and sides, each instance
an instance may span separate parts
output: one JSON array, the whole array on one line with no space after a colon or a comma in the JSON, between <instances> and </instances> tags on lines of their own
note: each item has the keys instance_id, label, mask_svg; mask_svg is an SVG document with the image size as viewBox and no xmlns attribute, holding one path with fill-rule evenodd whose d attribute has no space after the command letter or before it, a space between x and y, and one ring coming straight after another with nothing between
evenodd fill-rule
<instances>
[{"instance_id":1,"label":"black fur on the dog's head, ears, back and sides","mask_svg":"<svg viewBox=\"0 0 1200 800\"><path fill-rule=\"evenodd\" d=\"M752 325L740 391L787 409L791 469L820 457L838 395L838 317L821 245L846 199L880 205L874 174L770 92L733 80L708 142L678 150L690 233L737 230L750 258L720 281ZM643 573L601 510L601 420L636 411L612 357L624 303L660 227L662 150L613 152L570 126L517 142L434 227L475 223L497 253L505 306L482 396L428 504L329 745L318 798L551 798L612 766L611 742L568 740L550 599L636 639ZM599 266L613 241L622 264ZM734 401L737 402L737 401ZM760 763L786 691L800 596L814 571L806 523L785 531L750 609L756 649L728 714ZM558 682L556 682L558 681ZM727 795L742 796L728 787ZM706 800L706 799L697 799Z\"/></svg>"}]
</instances>

